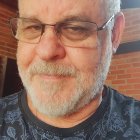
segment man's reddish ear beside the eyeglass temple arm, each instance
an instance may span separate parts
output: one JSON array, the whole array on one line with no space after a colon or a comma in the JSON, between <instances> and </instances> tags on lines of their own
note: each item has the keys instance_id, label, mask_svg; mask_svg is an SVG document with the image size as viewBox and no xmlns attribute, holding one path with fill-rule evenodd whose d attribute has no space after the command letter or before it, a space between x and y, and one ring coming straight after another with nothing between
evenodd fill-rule
<instances>
[{"instance_id":1,"label":"man's reddish ear beside the eyeglass temple arm","mask_svg":"<svg viewBox=\"0 0 140 140\"><path fill-rule=\"evenodd\" d=\"M112 51L113 51L113 53L115 53L119 47L124 27L125 27L124 15L122 12L119 12L115 16L114 27L112 30Z\"/></svg>"}]
</instances>

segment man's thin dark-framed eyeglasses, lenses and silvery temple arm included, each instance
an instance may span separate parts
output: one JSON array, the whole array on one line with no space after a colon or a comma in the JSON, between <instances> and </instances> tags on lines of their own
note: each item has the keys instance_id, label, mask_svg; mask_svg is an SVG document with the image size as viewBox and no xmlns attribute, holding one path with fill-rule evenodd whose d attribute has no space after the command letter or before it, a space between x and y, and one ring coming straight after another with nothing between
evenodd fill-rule
<instances>
[{"instance_id":1,"label":"man's thin dark-framed eyeglasses, lenses and silvery temple arm included","mask_svg":"<svg viewBox=\"0 0 140 140\"><path fill-rule=\"evenodd\" d=\"M65 21L56 24L42 24L28 18L10 19L10 27L14 37L22 42L37 44L48 27L53 27L60 42L69 47L76 47L88 40L95 33L104 30L114 18L114 15L101 27L89 21Z\"/></svg>"}]
</instances>

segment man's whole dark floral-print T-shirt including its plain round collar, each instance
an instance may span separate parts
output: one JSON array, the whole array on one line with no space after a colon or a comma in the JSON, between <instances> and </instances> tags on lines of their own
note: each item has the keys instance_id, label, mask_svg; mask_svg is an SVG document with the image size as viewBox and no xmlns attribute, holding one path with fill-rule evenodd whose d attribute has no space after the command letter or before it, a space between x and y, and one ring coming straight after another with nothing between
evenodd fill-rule
<instances>
[{"instance_id":1,"label":"man's whole dark floral-print T-shirt including its plain round collar","mask_svg":"<svg viewBox=\"0 0 140 140\"><path fill-rule=\"evenodd\" d=\"M67 129L38 120L28 108L25 91L0 99L0 140L140 140L140 102L105 89L97 111Z\"/></svg>"}]
</instances>

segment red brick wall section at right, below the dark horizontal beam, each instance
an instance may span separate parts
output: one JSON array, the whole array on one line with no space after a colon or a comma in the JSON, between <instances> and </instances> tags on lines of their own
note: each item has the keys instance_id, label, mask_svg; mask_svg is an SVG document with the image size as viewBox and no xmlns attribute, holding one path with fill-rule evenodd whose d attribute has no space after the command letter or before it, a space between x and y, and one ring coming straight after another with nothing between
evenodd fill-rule
<instances>
[{"instance_id":1,"label":"red brick wall section at right, below the dark horizontal beam","mask_svg":"<svg viewBox=\"0 0 140 140\"><path fill-rule=\"evenodd\" d=\"M106 84L140 100L140 51L115 55Z\"/></svg>"}]
</instances>

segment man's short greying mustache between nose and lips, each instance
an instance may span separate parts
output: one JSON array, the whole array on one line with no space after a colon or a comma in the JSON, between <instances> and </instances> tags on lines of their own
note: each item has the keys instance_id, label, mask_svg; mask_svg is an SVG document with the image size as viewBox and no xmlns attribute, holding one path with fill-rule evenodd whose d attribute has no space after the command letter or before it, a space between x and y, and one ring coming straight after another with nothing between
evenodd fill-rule
<instances>
[{"instance_id":1,"label":"man's short greying mustache between nose and lips","mask_svg":"<svg viewBox=\"0 0 140 140\"><path fill-rule=\"evenodd\" d=\"M58 64L55 62L46 62L43 60L38 60L33 62L28 68L28 73L35 74L47 74L55 76L71 76L75 77L77 69L73 66L68 66L64 64Z\"/></svg>"}]
</instances>

